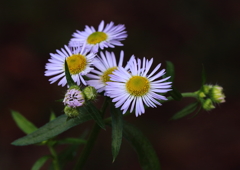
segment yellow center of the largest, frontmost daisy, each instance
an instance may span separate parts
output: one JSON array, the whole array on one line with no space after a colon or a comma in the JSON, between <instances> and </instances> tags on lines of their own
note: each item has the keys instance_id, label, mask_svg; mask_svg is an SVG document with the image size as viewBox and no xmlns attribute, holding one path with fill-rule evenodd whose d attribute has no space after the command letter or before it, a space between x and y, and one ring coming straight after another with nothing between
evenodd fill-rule
<instances>
[{"instance_id":1,"label":"yellow center of the largest, frontmost daisy","mask_svg":"<svg viewBox=\"0 0 240 170\"><path fill-rule=\"evenodd\" d=\"M127 91L133 96L143 96L150 89L150 83L147 78L133 76L126 83Z\"/></svg>"}]
</instances>

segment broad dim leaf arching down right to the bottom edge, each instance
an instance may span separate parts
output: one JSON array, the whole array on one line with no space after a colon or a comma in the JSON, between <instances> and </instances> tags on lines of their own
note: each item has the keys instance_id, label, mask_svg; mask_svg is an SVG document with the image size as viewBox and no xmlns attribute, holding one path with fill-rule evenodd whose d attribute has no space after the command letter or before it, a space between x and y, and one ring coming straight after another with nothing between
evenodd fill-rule
<instances>
[{"instance_id":1,"label":"broad dim leaf arching down right to the bottom edge","mask_svg":"<svg viewBox=\"0 0 240 170\"><path fill-rule=\"evenodd\" d=\"M160 163L153 146L139 129L124 122L123 136L137 152L143 170L160 170Z\"/></svg>"}]
</instances>

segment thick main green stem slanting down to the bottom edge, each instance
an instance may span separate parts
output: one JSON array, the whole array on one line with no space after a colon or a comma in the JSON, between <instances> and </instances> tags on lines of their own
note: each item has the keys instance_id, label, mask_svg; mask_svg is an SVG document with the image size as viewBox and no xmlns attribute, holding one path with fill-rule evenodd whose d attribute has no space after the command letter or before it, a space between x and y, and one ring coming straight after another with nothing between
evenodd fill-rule
<instances>
[{"instance_id":1,"label":"thick main green stem slanting down to the bottom edge","mask_svg":"<svg viewBox=\"0 0 240 170\"><path fill-rule=\"evenodd\" d=\"M103 107L101 109L101 116L103 117L105 111L106 111L106 108L107 108L107 98L105 98L105 101L103 103ZM90 155L90 152L96 142L96 139L98 137L98 134L100 132L101 128L99 127L99 125L97 123L94 124L93 126L93 129L90 133L90 136L87 140L87 144L85 145L85 147L83 148L83 151L80 155L80 157L78 158L77 160L77 163L74 167L74 170L80 170L84 167L85 163L86 163L86 160L88 158L88 156Z\"/></svg>"}]
</instances>

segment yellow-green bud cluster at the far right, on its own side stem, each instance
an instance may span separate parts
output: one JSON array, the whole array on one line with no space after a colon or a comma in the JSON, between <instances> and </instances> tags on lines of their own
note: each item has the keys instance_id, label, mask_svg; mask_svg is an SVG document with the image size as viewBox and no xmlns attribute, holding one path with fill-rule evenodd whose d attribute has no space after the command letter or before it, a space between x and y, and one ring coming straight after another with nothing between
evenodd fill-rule
<instances>
[{"instance_id":1,"label":"yellow-green bud cluster at the far right, on its own side stem","mask_svg":"<svg viewBox=\"0 0 240 170\"><path fill-rule=\"evenodd\" d=\"M209 111L215 108L214 104L224 103L225 95L223 88L218 85L204 85L203 88L197 91L203 109Z\"/></svg>"}]
</instances>

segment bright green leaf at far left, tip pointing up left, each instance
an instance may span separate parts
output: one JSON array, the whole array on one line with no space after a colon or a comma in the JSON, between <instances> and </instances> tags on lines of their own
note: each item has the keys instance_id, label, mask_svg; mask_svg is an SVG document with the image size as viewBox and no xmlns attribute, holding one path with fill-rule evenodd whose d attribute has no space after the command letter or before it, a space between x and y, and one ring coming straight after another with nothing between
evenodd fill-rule
<instances>
[{"instance_id":1,"label":"bright green leaf at far left, tip pointing up left","mask_svg":"<svg viewBox=\"0 0 240 170\"><path fill-rule=\"evenodd\" d=\"M29 120L27 120L23 115L19 112L11 111L12 117L16 122L17 126L26 134L32 133L36 131L38 128L32 124Z\"/></svg>"}]
</instances>

